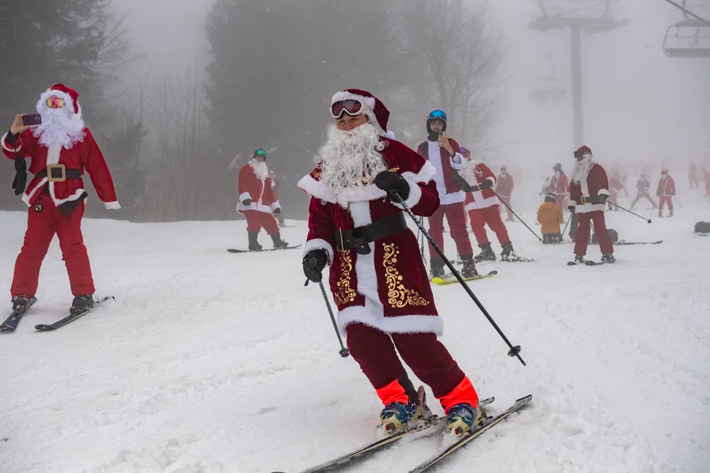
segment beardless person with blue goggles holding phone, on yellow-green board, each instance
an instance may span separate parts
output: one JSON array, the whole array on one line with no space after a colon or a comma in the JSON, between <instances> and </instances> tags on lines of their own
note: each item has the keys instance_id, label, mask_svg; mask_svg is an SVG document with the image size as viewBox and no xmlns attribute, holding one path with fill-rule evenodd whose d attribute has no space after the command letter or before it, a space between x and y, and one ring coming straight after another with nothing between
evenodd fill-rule
<instances>
[{"instance_id":1,"label":"beardless person with blue goggles holding phone, on yellow-green board","mask_svg":"<svg viewBox=\"0 0 710 473\"><path fill-rule=\"evenodd\" d=\"M473 277L479 273L474 264L474 250L471 248L469 232L466 230L466 215L464 200L466 194L461 191L451 178L454 169L463 169L466 159L461 154L459 143L445 135L447 116L442 110L432 111L427 116L427 141L421 143L417 152L429 161L437 170L433 177L439 193L437 211L429 217L429 234L435 243L444 250L444 215L449 222L451 238L456 243L457 251L464 266L461 276ZM437 255L431 243L429 245L430 277L440 277L444 274L444 260Z\"/></svg>"}]
</instances>

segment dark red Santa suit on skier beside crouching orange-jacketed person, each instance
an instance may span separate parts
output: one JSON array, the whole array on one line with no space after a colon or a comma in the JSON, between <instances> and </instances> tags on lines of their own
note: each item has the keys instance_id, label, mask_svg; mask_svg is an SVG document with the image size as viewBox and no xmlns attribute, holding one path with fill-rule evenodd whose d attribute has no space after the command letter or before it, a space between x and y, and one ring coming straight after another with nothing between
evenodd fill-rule
<instances>
[{"instance_id":1,"label":"dark red Santa suit on skier beside crouching orange-jacketed person","mask_svg":"<svg viewBox=\"0 0 710 473\"><path fill-rule=\"evenodd\" d=\"M577 178L577 176L573 176L572 182L569 184L569 200L574 203L574 210L579 219L579 228L574 241L574 254L578 256L586 255L592 221L594 222L594 233L596 233L596 237L599 240L599 249L602 254L613 253L613 243L604 220L606 204L599 204L596 201L601 195L609 195L609 182L606 177L606 171L601 165L592 163L589 174L586 177L579 177L579 181L575 180Z\"/></svg>"}]
</instances>

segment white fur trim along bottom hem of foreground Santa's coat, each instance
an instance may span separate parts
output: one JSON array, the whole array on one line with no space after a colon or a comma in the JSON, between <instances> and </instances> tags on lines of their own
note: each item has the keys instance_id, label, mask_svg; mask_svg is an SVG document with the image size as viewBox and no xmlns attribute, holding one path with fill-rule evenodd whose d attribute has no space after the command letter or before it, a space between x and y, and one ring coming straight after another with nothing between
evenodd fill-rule
<instances>
[{"instance_id":1,"label":"white fur trim along bottom hem of foreground Santa's coat","mask_svg":"<svg viewBox=\"0 0 710 473\"><path fill-rule=\"evenodd\" d=\"M364 323L384 333L444 334L444 320L439 316L377 316L363 306L347 307L338 313L338 330L342 335L346 335L346 327L353 323Z\"/></svg>"}]
</instances>

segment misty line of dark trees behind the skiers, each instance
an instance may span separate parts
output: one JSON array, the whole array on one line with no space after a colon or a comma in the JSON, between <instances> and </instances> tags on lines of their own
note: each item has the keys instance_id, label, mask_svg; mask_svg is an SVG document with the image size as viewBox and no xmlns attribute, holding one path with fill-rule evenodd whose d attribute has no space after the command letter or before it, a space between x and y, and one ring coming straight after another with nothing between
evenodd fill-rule
<instances>
[{"instance_id":1,"label":"misty line of dark trees behind the skiers","mask_svg":"<svg viewBox=\"0 0 710 473\"><path fill-rule=\"evenodd\" d=\"M312 169L340 89L383 99L389 128L412 147L425 139L432 108L447 111L448 134L461 145L479 154L495 145L502 57L485 4L217 0L205 23L207 67L188 57L180 74L149 70L121 85L121 65L140 51L111 0L52 3L51 13L40 0L11 13L0 6L0 50L12 65L0 69L0 109L9 126L51 84L77 89L132 221L234 218L238 170L229 164L240 155L244 165L260 147L273 150L267 162L285 215L305 215L295 184ZM3 208L16 208L6 204L10 182L0 189ZM98 216L95 201L88 211Z\"/></svg>"}]
</instances>

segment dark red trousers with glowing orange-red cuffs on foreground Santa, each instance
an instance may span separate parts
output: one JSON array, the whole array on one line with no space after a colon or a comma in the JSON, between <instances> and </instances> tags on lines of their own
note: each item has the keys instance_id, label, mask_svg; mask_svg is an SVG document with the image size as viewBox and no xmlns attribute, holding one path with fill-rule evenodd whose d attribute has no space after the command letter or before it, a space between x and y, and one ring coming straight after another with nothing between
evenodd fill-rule
<instances>
[{"instance_id":1,"label":"dark red trousers with glowing orange-red cuffs on foreground Santa","mask_svg":"<svg viewBox=\"0 0 710 473\"><path fill-rule=\"evenodd\" d=\"M362 323L348 325L346 331L350 354L385 406L394 401L406 402L405 389L398 381L406 372L395 347L416 377L430 386L444 411L457 404L478 406L474 386L435 334L388 335Z\"/></svg>"}]
</instances>

